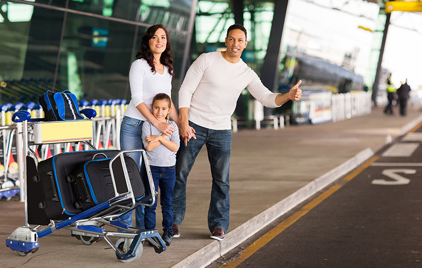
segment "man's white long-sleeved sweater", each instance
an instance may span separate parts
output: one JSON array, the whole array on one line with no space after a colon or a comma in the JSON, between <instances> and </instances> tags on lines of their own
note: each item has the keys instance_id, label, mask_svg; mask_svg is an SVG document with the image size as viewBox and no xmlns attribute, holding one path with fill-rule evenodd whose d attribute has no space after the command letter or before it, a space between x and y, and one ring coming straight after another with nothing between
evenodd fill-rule
<instances>
[{"instance_id":1,"label":"man's white long-sleeved sweater","mask_svg":"<svg viewBox=\"0 0 422 268\"><path fill-rule=\"evenodd\" d=\"M243 89L262 105L278 107L277 93L266 88L258 75L241 59L227 62L221 52L202 54L186 73L179 90L179 108L189 108L189 120L212 130L231 129L230 116Z\"/></svg>"}]
</instances>

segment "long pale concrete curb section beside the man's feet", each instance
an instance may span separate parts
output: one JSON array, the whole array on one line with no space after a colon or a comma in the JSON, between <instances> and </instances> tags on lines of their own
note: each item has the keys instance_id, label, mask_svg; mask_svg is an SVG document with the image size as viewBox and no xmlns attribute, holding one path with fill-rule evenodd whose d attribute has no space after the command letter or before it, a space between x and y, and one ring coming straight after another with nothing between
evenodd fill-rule
<instances>
[{"instance_id":1,"label":"long pale concrete curb section beside the man's feet","mask_svg":"<svg viewBox=\"0 0 422 268\"><path fill-rule=\"evenodd\" d=\"M172 268L204 268L226 254L281 215L307 200L327 185L347 174L374 154L371 148L359 152L340 166L311 181L274 206L256 215L231 232L221 242L213 241Z\"/></svg>"}]
</instances>

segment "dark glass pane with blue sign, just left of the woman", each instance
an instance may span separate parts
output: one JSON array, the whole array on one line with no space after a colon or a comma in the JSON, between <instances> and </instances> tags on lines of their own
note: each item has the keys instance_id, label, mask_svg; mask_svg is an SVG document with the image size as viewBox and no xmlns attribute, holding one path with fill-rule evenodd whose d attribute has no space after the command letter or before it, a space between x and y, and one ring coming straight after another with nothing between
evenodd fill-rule
<instances>
[{"instance_id":1,"label":"dark glass pane with blue sign, just left of the woman","mask_svg":"<svg viewBox=\"0 0 422 268\"><path fill-rule=\"evenodd\" d=\"M123 98L135 28L68 13L58 80L81 98Z\"/></svg>"}]
</instances>

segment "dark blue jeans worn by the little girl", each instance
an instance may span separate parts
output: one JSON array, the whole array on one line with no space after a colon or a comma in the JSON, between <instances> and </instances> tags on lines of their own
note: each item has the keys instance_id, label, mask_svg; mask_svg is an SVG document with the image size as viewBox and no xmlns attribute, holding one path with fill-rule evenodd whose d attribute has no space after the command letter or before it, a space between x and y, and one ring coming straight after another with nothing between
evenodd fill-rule
<instances>
[{"instance_id":1,"label":"dark blue jeans worn by the little girl","mask_svg":"<svg viewBox=\"0 0 422 268\"><path fill-rule=\"evenodd\" d=\"M157 167L150 166L152 179L154 180L155 191L160 189L160 204L163 214L163 230L169 230L173 233L173 190L176 181L176 166ZM145 177L144 180L147 180ZM151 194L149 187L145 187L145 194ZM155 208L157 201L152 206L145 206L145 229L155 229Z\"/></svg>"}]
</instances>

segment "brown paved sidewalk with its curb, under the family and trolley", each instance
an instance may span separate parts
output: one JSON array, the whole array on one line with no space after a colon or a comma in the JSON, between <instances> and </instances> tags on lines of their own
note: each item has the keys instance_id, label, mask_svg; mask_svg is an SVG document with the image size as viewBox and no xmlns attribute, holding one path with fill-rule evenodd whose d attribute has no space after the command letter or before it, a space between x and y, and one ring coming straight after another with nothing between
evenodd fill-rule
<instances>
[{"instance_id":1,"label":"brown paved sidewalk with its curb, under the family and trolley","mask_svg":"<svg viewBox=\"0 0 422 268\"><path fill-rule=\"evenodd\" d=\"M123 264L105 241L85 246L70 231L59 230L40 238L39 251L26 257L3 244L1 267L204 267L421 121L419 107L410 107L407 117L386 116L375 108L337 123L241 130L233 134L230 227L222 242L210 239L207 225L211 172L204 148L188 179L181 236L165 252L155 254L145 246L139 260ZM0 241L24 224L23 207L17 197L0 201ZM157 209L161 233L160 223Z\"/></svg>"}]
</instances>

